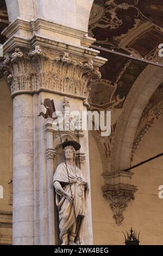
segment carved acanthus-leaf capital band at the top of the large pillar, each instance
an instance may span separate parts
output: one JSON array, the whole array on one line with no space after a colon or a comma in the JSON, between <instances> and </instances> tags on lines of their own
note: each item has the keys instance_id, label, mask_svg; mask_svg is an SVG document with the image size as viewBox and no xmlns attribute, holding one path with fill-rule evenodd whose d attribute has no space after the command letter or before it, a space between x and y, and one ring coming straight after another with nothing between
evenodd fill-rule
<instances>
[{"instance_id":1,"label":"carved acanthus-leaf capital band at the top of the large pillar","mask_svg":"<svg viewBox=\"0 0 163 256\"><path fill-rule=\"evenodd\" d=\"M11 95L44 88L86 99L90 93L87 84L92 79L101 78L90 58L73 59L68 52L52 55L39 46L30 52L16 48L14 53L5 55L0 71L7 76Z\"/></svg>"}]
</instances>

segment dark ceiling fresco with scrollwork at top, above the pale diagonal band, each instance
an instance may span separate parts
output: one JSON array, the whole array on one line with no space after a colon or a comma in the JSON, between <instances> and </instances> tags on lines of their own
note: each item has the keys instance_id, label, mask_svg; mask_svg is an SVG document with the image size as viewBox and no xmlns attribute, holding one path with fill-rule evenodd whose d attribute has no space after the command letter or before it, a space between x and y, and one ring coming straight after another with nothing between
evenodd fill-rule
<instances>
[{"instance_id":1,"label":"dark ceiling fresco with scrollwork at top, above the pale diagonal band","mask_svg":"<svg viewBox=\"0 0 163 256\"><path fill-rule=\"evenodd\" d=\"M117 48L131 32L150 23L163 27L161 0L95 0L92 6L89 35L97 44Z\"/></svg>"}]
</instances>

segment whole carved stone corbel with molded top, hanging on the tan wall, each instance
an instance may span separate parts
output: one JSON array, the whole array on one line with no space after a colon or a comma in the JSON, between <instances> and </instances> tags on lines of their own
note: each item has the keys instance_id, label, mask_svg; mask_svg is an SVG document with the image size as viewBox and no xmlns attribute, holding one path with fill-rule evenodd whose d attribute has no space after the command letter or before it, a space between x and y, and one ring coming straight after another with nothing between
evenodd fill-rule
<instances>
[{"instance_id":1,"label":"whole carved stone corbel with molded top, hanging on the tan wall","mask_svg":"<svg viewBox=\"0 0 163 256\"><path fill-rule=\"evenodd\" d=\"M102 176L105 179L105 185L102 187L103 197L110 202L110 208L113 211L113 218L119 226L124 220L123 212L130 200L134 200L136 186L130 185L131 172L105 173Z\"/></svg>"}]
</instances>

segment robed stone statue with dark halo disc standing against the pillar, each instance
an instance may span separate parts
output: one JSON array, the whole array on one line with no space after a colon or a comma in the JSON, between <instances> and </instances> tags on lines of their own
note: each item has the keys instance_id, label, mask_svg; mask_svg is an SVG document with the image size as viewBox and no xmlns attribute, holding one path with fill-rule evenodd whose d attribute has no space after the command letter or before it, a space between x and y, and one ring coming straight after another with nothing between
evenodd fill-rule
<instances>
[{"instance_id":1,"label":"robed stone statue with dark halo disc standing against the pillar","mask_svg":"<svg viewBox=\"0 0 163 256\"><path fill-rule=\"evenodd\" d=\"M73 164L80 144L65 141L63 146L67 169L65 162L62 162L53 176L59 211L61 245L84 245L83 229L87 210L88 184L81 170Z\"/></svg>"}]
</instances>

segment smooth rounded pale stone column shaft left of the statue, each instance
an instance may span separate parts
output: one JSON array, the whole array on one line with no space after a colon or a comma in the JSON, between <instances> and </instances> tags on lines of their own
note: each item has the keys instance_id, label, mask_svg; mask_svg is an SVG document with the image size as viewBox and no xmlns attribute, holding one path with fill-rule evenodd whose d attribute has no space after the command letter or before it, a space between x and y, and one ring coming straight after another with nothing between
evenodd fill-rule
<instances>
[{"instance_id":1,"label":"smooth rounded pale stone column shaft left of the statue","mask_svg":"<svg viewBox=\"0 0 163 256\"><path fill-rule=\"evenodd\" d=\"M15 96L13 106L13 244L33 245L33 95Z\"/></svg>"}]
</instances>

